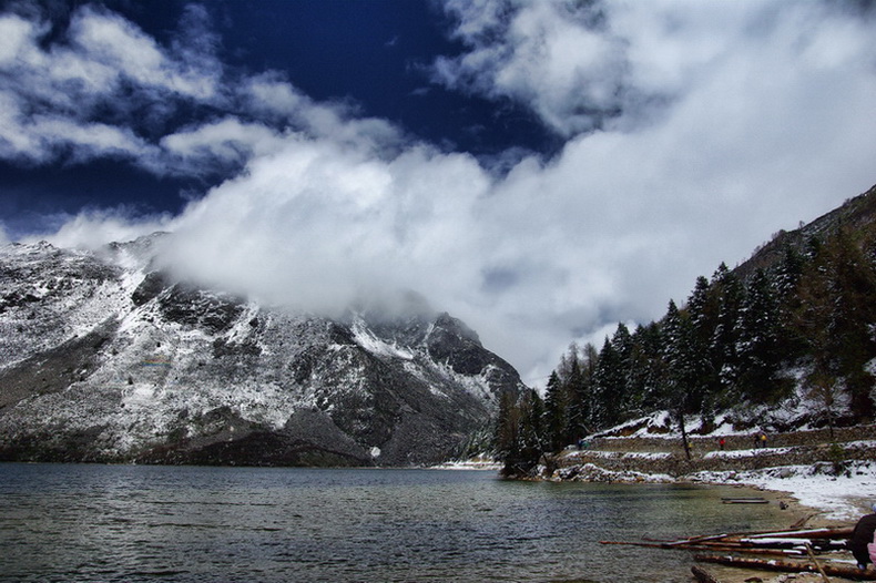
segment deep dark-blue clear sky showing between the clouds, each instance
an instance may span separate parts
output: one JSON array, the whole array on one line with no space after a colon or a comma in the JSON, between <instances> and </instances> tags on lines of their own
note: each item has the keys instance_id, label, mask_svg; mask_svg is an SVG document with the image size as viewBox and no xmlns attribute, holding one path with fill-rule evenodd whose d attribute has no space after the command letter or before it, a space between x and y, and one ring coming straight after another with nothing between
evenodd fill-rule
<instances>
[{"instance_id":1,"label":"deep dark-blue clear sky showing between the clouds","mask_svg":"<svg viewBox=\"0 0 876 583\"><path fill-rule=\"evenodd\" d=\"M346 103L363 115L391 122L411 137L446 151L473 153L490 165L501 165L511 147L547 154L561 144L511 100L498 103L460 94L431 81L432 61L464 47L448 38L451 20L430 2L120 0L12 2L8 9L45 28L40 41L48 43L50 52L75 35L75 22L83 13L124 19L171 51L174 44L192 42L186 37L194 25L201 49L225 69L221 82L233 84L273 71L314 100ZM116 92L112 99L133 96ZM184 99L159 114L151 100L160 99L144 95L132 111L104 106L103 112L90 112L90 117L132 127L154 140L193 123L208 123L224 109L242 117L253 115L245 109L234 111L228 103ZM213 161L186 172L144 172L135 161L105 154L82 162L73 152L57 152L38 165L16 156L0 160L8 207L2 218L10 236L51 229L67 219L63 213L75 214L83 207L128 204L140 213L179 213L192 196L240 171L240 164Z\"/></svg>"}]
</instances>

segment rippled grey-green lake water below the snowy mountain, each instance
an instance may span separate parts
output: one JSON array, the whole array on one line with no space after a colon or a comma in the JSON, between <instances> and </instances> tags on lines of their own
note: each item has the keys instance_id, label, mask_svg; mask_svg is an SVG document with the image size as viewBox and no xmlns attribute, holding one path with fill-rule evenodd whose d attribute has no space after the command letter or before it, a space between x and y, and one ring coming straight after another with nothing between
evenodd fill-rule
<instances>
[{"instance_id":1,"label":"rippled grey-green lake water below the snowy mountain","mask_svg":"<svg viewBox=\"0 0 876 583\"><path fill-rule=\"evenodd\" d=\"M786 526L739 490L492 472L0 463L0 581L689 581L601 545Z\"/></svg>"}]
</instances>

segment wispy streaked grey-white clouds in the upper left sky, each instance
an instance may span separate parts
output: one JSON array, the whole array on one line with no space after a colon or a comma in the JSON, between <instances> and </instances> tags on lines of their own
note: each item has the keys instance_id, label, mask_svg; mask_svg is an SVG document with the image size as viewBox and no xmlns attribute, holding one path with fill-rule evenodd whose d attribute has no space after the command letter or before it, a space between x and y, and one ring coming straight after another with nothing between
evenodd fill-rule
<instances>
[{"instance_id":1,"label":"wispy streaked grey-white clouds in the upper left sky","mask_svg":"<svg viewBox=\"0 0 876 583\"><path fill-rule=\"evenodd\" d=\"M157 175L198 174L274 152L288 132L378 155L400 151L403 133L390 123L347 103L317 103L279 72L226 73L206 18L189 7L186 29L163 47L120 16L85 6L63 40L45 47L47 23L0 16L0 157L125 156ZM183 104L227 113L204 114L150 142L150 122L161 129ZM102 121L108 111L115 125Z\"/></svg>"}]
</instances>

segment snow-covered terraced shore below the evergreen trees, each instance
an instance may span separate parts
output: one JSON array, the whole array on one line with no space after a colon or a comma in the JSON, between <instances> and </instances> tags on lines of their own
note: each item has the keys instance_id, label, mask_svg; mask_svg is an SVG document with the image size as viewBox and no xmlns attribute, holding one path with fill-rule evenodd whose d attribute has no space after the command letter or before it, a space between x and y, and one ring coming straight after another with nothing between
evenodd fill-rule
<instances>
[{"instance_id":1,"label":"snow-covered terraced shore below the evergreen trees","mask_svg":"<svg viewBox=\"0 0 876 583\"><path fill-rule=\"evenodd\" d=\"M665 415L631 421L556 457L550 479L747 485L786 493L812 509L816 514L809 524L849 523L870 512L875 426L762 433L760 428L733 430L722 421L707 433L690 436L691 459ZM761 434L770 447L752 447Z\"/></svg>"}]
</instances>

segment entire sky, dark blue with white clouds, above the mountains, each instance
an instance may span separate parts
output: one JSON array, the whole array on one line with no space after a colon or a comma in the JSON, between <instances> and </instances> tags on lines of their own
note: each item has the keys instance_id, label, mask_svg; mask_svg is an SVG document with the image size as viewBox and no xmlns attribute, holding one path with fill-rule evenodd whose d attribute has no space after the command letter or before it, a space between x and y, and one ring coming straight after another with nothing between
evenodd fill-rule
<instances>
[{"instance_id":1,"label":"entire sky, dark blue with white clouds, above the mountains","mask_svg":"<svg viewBox=\"0 0 876 583\"><path fill-rule=\"evenodd\" d=\"M860 0L7 0L0 243L414 289L543 385L876 183L874 41Z\"/></svg>"}]
</instances>

